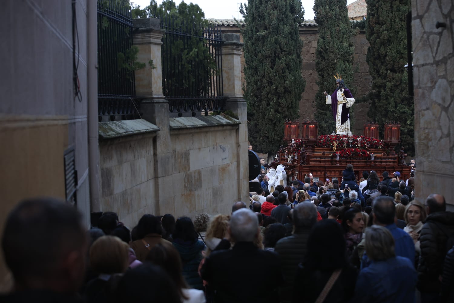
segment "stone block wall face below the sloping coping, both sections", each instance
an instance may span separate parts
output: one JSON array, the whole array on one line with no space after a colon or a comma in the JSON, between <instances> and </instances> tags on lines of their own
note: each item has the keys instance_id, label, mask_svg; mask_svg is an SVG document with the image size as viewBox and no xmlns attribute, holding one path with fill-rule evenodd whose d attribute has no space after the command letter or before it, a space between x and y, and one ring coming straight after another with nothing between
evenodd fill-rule
<instances>
[{"instance_id":1,"label":"stone block wall face below the sloping coping, both sections","mask_svg":"<svg viewBox=\"0 0 454 303\"><path fill-rule=\"evenodd\" d=\"M131 228L143 214L230 214L234 202L248 202L238 124L173 129L168 152L158 154L156 133L101 140L101 211L116 212Z\"/></svg>"}]
</instances>

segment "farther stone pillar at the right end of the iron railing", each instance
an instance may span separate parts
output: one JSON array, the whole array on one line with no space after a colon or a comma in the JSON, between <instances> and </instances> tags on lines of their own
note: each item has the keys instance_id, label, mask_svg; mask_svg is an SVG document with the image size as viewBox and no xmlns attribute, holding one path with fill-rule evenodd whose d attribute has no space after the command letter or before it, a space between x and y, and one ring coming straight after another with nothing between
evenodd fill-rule
<instances>
[{"instance_id":1,"label":"farther stone pillar at the right end of the iron railing","mask_svg":"<svg viewBox=\"0 0 454 303\"><path fill-rule=\"evenodd\" d=\"M244 43L238 34L222 34L222 89L227 98L226 110L238 116L238 199L247 204L249 194L249 160L247 154L247 106L242 94L241 55Z\"/></svg>"}]
</instances>

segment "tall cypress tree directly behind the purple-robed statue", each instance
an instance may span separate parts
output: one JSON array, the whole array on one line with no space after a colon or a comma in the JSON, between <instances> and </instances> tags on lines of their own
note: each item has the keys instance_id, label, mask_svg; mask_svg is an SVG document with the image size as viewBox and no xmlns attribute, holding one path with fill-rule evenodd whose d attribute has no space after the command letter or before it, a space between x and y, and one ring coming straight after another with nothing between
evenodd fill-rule
<instances>
[{"instance_id":1,"label":"tall cypress tree directly behind the purple-robed statue","mask_svg":"<svg viewBox=\"0 0 454 303\"><path fill-rule=\"evenodd\" d=\"M318 24L318 41L316 49L316 70L318 74L318 91L316 94L315 118L319 134L331 134L336 131L331 105L326 104L323 91L332 94L336 89L334 75L339 73L353 97L353 35L348 19L346 0L315 0L315 21ZM353 111L350 107L350 131L353 129Z\"/></svg>"}]
</instances>

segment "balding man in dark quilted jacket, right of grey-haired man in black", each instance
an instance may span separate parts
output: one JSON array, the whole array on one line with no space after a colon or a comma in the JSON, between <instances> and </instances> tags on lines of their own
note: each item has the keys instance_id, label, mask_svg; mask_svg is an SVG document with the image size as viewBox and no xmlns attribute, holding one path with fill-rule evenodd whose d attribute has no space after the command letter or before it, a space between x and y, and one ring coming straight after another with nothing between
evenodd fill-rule
<instances>
[{"instance_id":1,"label":"balding man in dark quilted jacket, right of grey-haired man in black","mask_svg":"<svg viewBox=\"0 0 454 303\"><path fill-rule=\"evenodd\" d=\"M311 227L316 222L317 209L315 204L301 202L293 209L293 234L280 239L276 243L274 250L281 255L282 272L286 281L285 286L279 288L279 297L283 303L291 302L296 268L306 254L307 238Z\"/></svg>"}]
</instances>

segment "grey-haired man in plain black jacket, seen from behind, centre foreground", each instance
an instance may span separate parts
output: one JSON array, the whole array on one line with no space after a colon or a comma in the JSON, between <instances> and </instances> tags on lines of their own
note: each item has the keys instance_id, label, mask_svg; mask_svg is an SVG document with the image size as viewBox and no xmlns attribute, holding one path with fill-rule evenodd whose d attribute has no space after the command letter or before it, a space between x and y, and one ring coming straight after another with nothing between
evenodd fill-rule
<instances>
[{"instance_id":1,"label":"grey-haired man in plain black jacket, seen from behind, centre foreground","mask_svg":"<svg viewBox=\"0 0 454 303\"><path fill-rule=\"evenodd\" d=\"M214 302L277 302L277 287L284 283L281 264L276 253L253 243L260 233L257 215L249 209L237 210L228 233L235 242L233 248L212 252L201 270L202 278L215 290ZM250 285L241 285L240 280Z\"/></svg>"}]
</instances>

